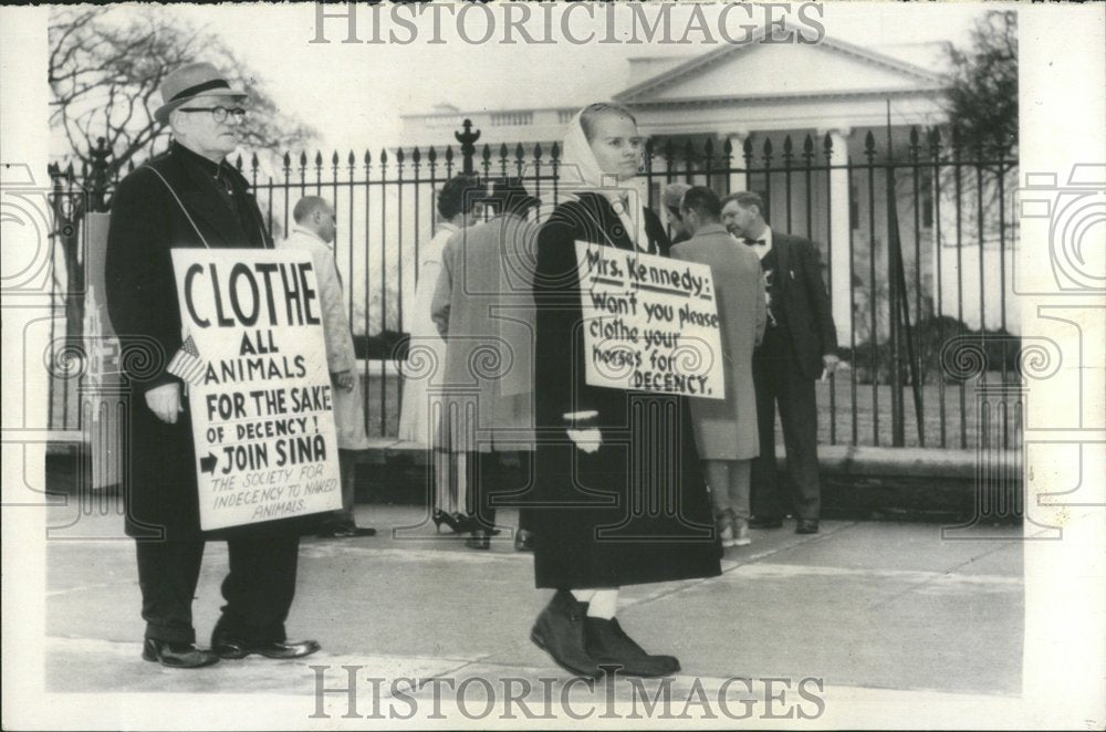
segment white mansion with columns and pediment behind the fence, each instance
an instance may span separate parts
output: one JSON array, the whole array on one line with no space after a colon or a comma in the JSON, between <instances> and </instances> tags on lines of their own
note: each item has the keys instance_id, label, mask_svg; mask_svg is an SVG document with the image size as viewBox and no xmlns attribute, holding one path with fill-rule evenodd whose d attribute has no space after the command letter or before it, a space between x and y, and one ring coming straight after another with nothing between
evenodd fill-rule
<instances>
[{"instance_id":1,"label":"white mansion with columns and pediment behind the fence","mask_svg":"<svg viewBox=\"0 0 1106 732\"><path fill-rule=\"evenodd\" d=\"M896 169L894 198L911 311L914 302L925 299L927 305L919 307L924 315L951 315L970 327L985 324L994 328L1000 325L1003 290L1010 294L1013 255L1009 251L1000 254L992 241L979 245L972 228L977 221L974 199L964 198L974 190L974 182L968 180L971 171L964 172L971 185L961 190L960 208L966 216L960 221L961 251L957 257L949 249L957 243L956 222L947 218L956 201L942 185L943 174L935 176L925 165L909 167L911 130L920 134L915 149L925 163L929 149L926 132L947 122L942 108L946 83L936 71L940 57L938 44L872 50L831 38L817 44L754 40L693 55L629 59L626 83L609 98L630 108L640 132L651 138L655 176L668 172L668 160L659 151L671 143L678 153L672 160L674 178L720 191L755 190L770 201L773 228L808 233L818 242L843 344L849 342L851 334L857 343L868 337L865 300L878 301L878 283L888 276L890 232L884 164L890 147L895 163L908 166ZM501 109L442 105L429 113L404 115L404 137L417 146L456 145L452 133L461 119L469 118L473 128L481 130L478 147L488 143L495 150L505 143L513 155L521 143L526 150L534 144L549 150L562 139L565 125L578 108L592 101L598 100L555 100L549 106ZM807 137L810 148L804 147ZM689 164L679 154L689 142L701 151L708 139L712 161L697 156ZM790 160L785 160L789 139ZM768 159L765 142L771 146ZM729 161L723 156L727 144L732 150ZM752 157L747 159L743 154L750 148ZM804 157L806 151L810 155ZM785 170L789 161L790 174ZM858 167L849 171L849 163ZM805 172L807 164L813 166L810 174ZM705 172L708 165L716 171L709 178ZM719 175L719 168L727 172ZM653 200L657 200L664 178L653 180ZM1010 188L1008 195L1013 186ZM983 229L987 239L995 239L997 227ZM1004 233L1004 245L1012 248L1012 232ZM980 278L997 280L1001 266L1006 269L1005 287L998 281L981 287ZM869 282L873 271L875 286ZM876 332L886 333L886 309L878 310L884 322L877 318ZM912 318L917 315L911 312ZM1003 318L1002 324L1016 331L1015 322Z\"/></svg>"}]
</instances>

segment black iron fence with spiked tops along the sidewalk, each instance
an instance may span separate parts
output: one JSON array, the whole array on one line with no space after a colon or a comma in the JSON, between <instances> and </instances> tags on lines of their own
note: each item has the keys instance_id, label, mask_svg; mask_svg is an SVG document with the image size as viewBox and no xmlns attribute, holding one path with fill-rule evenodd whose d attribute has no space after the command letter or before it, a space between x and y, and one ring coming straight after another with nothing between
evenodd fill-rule
<instances>
[{"instance_id":1,"label":"black iron fence with spiked tops along the sidewalk","mask_svg":"<svg viewBox=\"0 0 1106 732\"><path fill-rule=\"evenodd\" d=\"M371 435L398 427L397 367L419 248L436 231L435 197L457 172L522 177L555 203L561 150L554 143L484 143L465 121L457 145L234 159L253 184L274 237L289 230L300 196L337 210L335 257L362 363ZM101 150L100 160L106 160ZM96 167L95 165L93 166ZM125 175L134 168L118 175ZM103 170L51 169L54 180L55 303L67 334L86 316L66 296L82 266L81 210L106 210L117 184ZM719 192L761 194L774 230L818 245L847 368L817 386L826 443L969 448L980 443L981 384L1020 380L1016 320L1008 295L1018 245L1011 205L1016 160L963 149L937 129L654 139L641 177L649 206L671 181ZM75 196L81 194L81 196ZM76 278L79 280L80 278ZM405 310L406 309L406 310ZM62 318L67 318L62 320ZM82 321L81 325L73 323ZM397 347L398 344L398 347ZM964 348L982 367L963 367ZM52 383L50 425L80 429L77 385ZM1004 446L1020 426L1003 411ZM988 427L987 429L993 429ZM988 437L991 439L991 437Z\"/></svg>"}]
</instances>

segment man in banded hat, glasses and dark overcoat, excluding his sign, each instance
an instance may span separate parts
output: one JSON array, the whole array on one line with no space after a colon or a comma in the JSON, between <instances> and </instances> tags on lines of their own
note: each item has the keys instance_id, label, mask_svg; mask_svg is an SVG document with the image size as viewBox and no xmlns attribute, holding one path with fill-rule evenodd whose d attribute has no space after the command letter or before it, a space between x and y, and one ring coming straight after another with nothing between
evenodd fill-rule
<instances>
[{"instance_id":1,"label":"man in banded hat, glasses and dark overcoat, excluding his sign","mask_svg":"<svg viewBox=\"0 0 1106 732\"><path fill-rule=\"evenodd\" d=\"M171 72L160 91L155 117L173 129L173 142L119 182L105 262L108 313L133 389L126 530L137 540L143 658L198 668L250 653L306 656L319 644L284 635L299 523L200 530L191 420L182 381L166 370L181 346L171 249L272 248L249 184L223 160L238 146L247 97L209 63ZM230 556L211 650L196 647L191 613L206 538L226 538Z\"/></svg>"}]
</instances>

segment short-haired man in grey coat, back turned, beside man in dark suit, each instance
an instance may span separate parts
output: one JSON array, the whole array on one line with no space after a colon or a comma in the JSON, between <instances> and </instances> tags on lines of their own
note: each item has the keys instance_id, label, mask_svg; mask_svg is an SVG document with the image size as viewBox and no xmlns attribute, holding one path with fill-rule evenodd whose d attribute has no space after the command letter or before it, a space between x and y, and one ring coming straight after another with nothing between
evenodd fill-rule
<instances>
[{"instance_id":1,"label":"short-haired man in grey coat, back turned, beside man in dark suit","mask_svg":"<svg viewBox=\"0 0 1106 732\"><path fill-rule=\"evenodd\" d=\"M672 258L709 265L714 281L722 336L722 353L714 358L724 374L726 399L691 398L691 421L722 545L744 546L751 543L749 473L760 451L753 349L764 335L764 281L757 255L727 232L721 212L718 194L689 187L680 219L691 239L672 247Z\"/></svg>"}]
</instances>

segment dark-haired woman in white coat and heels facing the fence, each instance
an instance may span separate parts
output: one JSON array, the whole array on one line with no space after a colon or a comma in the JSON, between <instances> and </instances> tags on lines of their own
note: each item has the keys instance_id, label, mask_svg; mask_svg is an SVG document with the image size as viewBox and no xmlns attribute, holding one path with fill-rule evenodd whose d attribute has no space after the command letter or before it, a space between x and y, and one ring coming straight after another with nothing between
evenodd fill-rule
<instances>
[{"instance_id":1,"label":"dark-haired woman in white coat and heels facing the fence","mask_svg":"<svg viewBox=\"0 0 1106 732\"><path fill-rule=\"evenodd\" d=\"M446 242L466 226L479 192L473 176L458 175L447 180L438 191L438 230L419 251L418 284L411 307L410 351L404 366L404 396L399 407L399 439L425 445L434 466L435 496L430 517L436 527L445 523L463 533L473 521L466 511L466 473L449 446L442 445L440 425L431 420L432 393L441 387L446 370L446 343L430 317L434 289L441 271L441 252Z\"/></svg>"}]
</instances>

